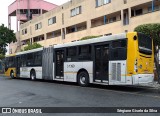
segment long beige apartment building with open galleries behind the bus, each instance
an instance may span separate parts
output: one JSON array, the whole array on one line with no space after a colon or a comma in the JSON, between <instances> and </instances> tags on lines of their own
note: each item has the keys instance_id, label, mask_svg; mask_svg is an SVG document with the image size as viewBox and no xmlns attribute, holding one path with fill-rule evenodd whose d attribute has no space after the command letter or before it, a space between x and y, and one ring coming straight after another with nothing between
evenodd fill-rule
<instances>
[{"instance_id":1,"label":"long beige apartment building with open galleries behind the bus","mask_svg":"<svg viewBox=\"0 0 160 116\"><path fill-rule=\"evenodd\" d=\"M140 24L160 23L159 19L160 0L71 0L22 24L17 36L21 49L27 42L47 47L90 35L133 31Z\"/></svg>"}]
</instances>

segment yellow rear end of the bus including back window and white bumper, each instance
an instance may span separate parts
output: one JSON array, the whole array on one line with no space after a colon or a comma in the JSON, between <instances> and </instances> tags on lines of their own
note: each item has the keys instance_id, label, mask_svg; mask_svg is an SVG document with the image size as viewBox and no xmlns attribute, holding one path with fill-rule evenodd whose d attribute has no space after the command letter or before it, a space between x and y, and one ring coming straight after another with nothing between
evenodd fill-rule
<instances>
[{"instance_id":1,"label":"yellow rear end of the bus including back window and white bumper","mask_svg":"<svg viewBox=\"0 0 160 116\"><path fill-rule=\"evenodd\" d=\"M127 78L133 85L149 84L154 79L154 52L150 37L128 33ZM127 80L127 81L128 81Z\"/></svg>"}]
</instances>

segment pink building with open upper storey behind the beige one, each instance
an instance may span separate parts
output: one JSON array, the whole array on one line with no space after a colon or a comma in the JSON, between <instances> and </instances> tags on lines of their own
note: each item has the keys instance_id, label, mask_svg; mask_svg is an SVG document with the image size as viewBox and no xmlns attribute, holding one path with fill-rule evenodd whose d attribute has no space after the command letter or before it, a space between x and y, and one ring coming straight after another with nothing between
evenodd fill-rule
<instances>
[{"instance_id":1,"label":"pink building with open upper storey behind the beige one","mask_svg":"<svg viewBox=\"0 0 160 116\"><path fill-rule=\"evenodd\" d=\"M11 17L17 17L18 25L58 7L44 0L15 0L8 6L8 27L11 29Z\"/></svg>"}]
</instances>

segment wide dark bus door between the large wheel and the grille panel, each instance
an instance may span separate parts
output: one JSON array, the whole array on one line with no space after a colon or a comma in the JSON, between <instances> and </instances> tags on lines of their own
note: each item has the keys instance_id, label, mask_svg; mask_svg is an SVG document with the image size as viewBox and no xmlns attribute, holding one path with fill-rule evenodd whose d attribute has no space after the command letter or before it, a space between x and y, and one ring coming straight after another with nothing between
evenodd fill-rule
<instances>
[{"instance_id":1,"label":"wide dark bus door between the large wheel and the grille panel","mask_svg":"<svg viewBox=\"0 0 160 116\"><path fill-rule=\"evenodd\" d=\"M95 46L95 81L108 82L109 45Z\"/></svg>"}]
</instances>

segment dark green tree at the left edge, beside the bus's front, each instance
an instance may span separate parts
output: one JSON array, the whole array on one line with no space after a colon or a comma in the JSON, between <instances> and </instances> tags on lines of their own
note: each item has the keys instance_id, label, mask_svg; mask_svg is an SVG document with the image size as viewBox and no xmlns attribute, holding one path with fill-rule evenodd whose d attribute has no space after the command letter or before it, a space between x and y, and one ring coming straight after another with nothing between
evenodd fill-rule
<instances>
[{"instance_id":1,"label":"dark green tree at the left edge, beside the bus's front","mask_svg":"<svg viewBox=\"0 0 160 116\"><path fill-rule=\"evenodd\" d=\"M0 54L5 55L7 52L6 47L11 42L16 41L16 36L13 30L8 29L7 27L2 24L0 26Z\"/></svg>"}]
</instances>

